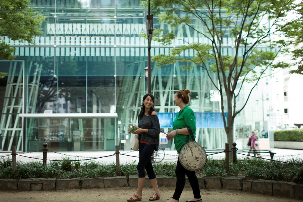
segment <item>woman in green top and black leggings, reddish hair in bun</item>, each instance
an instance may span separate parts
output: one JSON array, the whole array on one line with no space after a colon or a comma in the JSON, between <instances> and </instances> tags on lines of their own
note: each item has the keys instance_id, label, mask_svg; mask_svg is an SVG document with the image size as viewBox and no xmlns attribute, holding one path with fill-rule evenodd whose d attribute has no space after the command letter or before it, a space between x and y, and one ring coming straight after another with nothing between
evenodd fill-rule
<instances>
[{"instance_id":1,"label":"woman in green top and black leggings, reddish hair in bun","mask_svg":"<svg viewBox=\"0 0 303 202\"><path fill-rule=\"evenodd\" d=\"M179 153L182 147L186 144L186 137L189 135L187 127L191 127L191 131L196 135L196 117L194 111L187 105L189 103L190 96L188 95L190 90L179 90L175 94L175 104L180 107L180 111L177 114L173 122L173 131L167 134L166 138L171 140L174 138L175 147L177 152ZM189 137L188 141L192 141L191 137ZM179 159L177 161L176 166L176 176L177 183L175 188L175 193L171 200L168 202L178 202L185 186L185 174L188 177L188 181L191 185L192 191L194 193L194 198L188 200L188 202L202 202L200 188L198 183L198 178L196 176L195 171L186 170L180 163Z\"/></svg>"}]
</instances>

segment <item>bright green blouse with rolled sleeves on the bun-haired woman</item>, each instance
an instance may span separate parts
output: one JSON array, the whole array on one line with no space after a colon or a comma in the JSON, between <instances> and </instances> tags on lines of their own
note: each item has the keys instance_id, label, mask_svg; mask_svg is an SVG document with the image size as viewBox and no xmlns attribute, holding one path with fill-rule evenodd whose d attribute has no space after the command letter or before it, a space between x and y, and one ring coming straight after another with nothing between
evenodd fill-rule
<instances>
[{"instance_id":1,"label":"bright green blouse with rolled sleeves on the bun-haired woman","mask_svg":"<svg viewBox=\"0 0 303 202\"><path fill-rule=\"evenodd\" d=\"M178 112L177 117L173 122L174 130L185 127L190 127L194 137L196 138L196 116L194 111L188 106L185 106ZM186 144L186 137L187 135L180 134L180 132L174 137L174 143L178 153ZM191 136L189 136L188 141L192 141Z\"/></svg>"}]
</instances>

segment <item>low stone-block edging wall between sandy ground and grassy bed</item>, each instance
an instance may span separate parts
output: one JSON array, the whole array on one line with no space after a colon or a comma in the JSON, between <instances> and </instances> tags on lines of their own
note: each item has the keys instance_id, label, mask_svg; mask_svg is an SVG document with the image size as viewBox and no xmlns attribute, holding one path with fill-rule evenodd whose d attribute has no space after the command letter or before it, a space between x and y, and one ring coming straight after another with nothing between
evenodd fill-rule
<instances>
[{"instance_id":1,"label":"low stone-block edging wall between sandy ground and grassy bed","mask_svg":"<svg viewBox=\"0 0 303 202\"><path fill-rule=\"evenodd\" d=\"M228 189L254 194L264 194L269 196L280 196L292 199L303 199L303 184L292 182L279 182L275 180L246 180L244 177L198 177L201 189ZM176 178L170 176L157 176L159 187L175 187ZM137 187L138 176L118 176L118 177L98 177L98 178L36 178L36 179L0 179L0 191L5 190L62 190L62 189L90 189L108 187ZM151 187L151 183L146 178L144 187ZM185 187L190 187L186 178Z\"/></svg>"}]
</instances>

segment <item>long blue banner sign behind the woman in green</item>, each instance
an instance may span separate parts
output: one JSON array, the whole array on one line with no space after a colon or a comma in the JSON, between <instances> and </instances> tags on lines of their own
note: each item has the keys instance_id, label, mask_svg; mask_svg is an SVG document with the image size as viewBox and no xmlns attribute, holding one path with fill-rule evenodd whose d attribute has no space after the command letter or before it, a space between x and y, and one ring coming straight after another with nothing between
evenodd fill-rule
<instances>
[{"instance_id":1,"label":"long blue banner sign behind the woman in green","mask_svg":"<svg viewBox=\"0 0 303 202\"><path fill-rule=\"evenodd\" d=\"M158 118L161 128L172 128L172 123L178 113L172 112L158 112ZM226 115L225 114L225 121ZM196 128L224 128L224 122L221 112L195 112Z\"/></svg>"}]
</instances>

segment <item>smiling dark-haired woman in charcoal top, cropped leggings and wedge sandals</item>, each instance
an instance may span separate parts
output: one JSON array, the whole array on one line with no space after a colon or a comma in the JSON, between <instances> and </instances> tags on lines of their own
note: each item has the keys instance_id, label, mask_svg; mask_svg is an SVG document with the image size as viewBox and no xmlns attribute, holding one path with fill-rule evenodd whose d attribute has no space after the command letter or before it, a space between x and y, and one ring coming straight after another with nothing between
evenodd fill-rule
<instances>
[{"instance_id":1,"label":"smiling dark-haired woman in charcoal top, cropped leggings and wedge sandals","mask_svg":"<svg viewBox=\"0 0 303 202\"><path fill-rule=\"evenodd\" d=\"M138 126L135 125L133 134L139 134L140 140L139 154L140 159L137 165L138 170L138 189L137 192L127 201L140 201L142 200L142 189L145 181L145 171L147 172L148 179L154 188L154 194L149 198L150 201L160 199L160 190L157 184L156 175L151 164L151 155L159 147L159 134L160 123L157 112L154 107L155 98L152 94L148 93L143 96L141 111L138 114Z\"/></svg>"}]
</instances>

